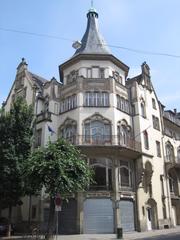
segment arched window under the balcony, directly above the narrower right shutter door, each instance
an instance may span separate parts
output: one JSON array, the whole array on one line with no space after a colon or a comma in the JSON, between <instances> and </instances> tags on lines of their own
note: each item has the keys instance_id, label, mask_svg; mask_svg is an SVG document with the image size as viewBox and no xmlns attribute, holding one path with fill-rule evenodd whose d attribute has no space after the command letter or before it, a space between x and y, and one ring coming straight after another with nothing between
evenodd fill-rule
<instances>
[{"instance_id":1,"label":"arched window under the balcony, directly above the narrower right shutter door","mask_svg":"<svg viewBox=\"0 0 180 240\"><path fill-rule=\"evenodd\" d=\"M132 165L129 161L120 161L118 176L120 189L132 189Z\"/></svg>"}]
</instances>

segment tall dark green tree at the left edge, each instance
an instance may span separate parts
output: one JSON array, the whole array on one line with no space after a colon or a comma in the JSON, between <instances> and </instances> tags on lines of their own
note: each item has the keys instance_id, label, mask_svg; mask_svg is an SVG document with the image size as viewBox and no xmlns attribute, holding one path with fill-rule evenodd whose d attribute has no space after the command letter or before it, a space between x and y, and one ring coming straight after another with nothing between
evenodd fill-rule
<instances>
[{"instance_id":1,"label":"tall dark green tree at the left edge","mask_svg":"<svg viewBox=\"0 0 180 240\"><path fill-rule=\"evenodd\" d=\"M25 194L22 172L31 150L32 119L32 107L22 98L9 112L0 112L0 209L9 208L9 221L12 207Z\"/></svg>"}]
</instances>

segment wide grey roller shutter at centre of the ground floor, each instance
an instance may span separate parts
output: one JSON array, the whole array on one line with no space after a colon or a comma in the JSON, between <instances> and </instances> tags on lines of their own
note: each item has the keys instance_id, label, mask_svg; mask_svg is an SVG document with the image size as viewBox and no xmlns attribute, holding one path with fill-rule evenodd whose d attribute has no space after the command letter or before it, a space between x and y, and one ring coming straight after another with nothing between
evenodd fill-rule
<instances>
[{"instance_id":1,"label":"wide grey roller shutter at centre of the ground floor","mask_svg":"<svg viewBox=\"0 0 180 240\"><path fill-rule=\"evenodd\" d=\"M84 233L113 233L113 208L110 199L84 202Z\"/></svg>"}]
</instances>

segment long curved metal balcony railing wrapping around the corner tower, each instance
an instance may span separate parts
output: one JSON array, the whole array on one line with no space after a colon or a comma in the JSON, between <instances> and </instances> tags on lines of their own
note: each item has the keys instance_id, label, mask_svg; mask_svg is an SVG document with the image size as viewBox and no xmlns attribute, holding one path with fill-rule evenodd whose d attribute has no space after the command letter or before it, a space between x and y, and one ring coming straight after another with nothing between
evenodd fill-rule
<instances>
[{"instance_id":1,"label":"long curved metal balcony railing wrapping around the corner tower","mask_svg":"<svg viewBox=\"0 0 180 240\"><path fill-rule=\"evenodd\" d=\"M117 135L73 135L66 140L75 145L121 146L141 151L140 142L133 138L120 139Z\"/></svg>"}]
</instances>

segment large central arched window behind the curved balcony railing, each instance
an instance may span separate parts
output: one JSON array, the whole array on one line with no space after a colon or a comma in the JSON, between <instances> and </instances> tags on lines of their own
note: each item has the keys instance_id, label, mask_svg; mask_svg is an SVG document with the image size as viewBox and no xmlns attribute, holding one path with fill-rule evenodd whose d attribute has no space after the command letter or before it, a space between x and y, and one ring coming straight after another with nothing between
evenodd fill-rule
<instances>
[{"instance_id":1,"label":"large central arched window behind the curved balcony railing","mask_svg":"<svg viewBox=\"0 0 180 240\"><path fill-rule=\"evenodd\" d=\"M101 115L93 115L84 122L84 142L105 144L111 142L110 121Z\"/></svg>"}]
</instances>

